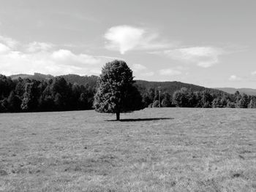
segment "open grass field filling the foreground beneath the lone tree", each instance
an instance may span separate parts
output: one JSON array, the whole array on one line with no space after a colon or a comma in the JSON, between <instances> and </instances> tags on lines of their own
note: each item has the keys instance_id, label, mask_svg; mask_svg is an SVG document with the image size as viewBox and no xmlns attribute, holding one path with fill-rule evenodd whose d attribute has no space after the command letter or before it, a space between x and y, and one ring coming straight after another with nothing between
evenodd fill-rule
<instances>
[{"instance_id":1,"label":"open grass field filling the foreground beneath the lone tree","mask_svg":"<svg viewBox=\"0 0 256 192\"><path fill-rule=\"evenodd\" d=\"M115 118L0 114L0 191L256 191L256 110Z\"/></svg>"}]
</instances>

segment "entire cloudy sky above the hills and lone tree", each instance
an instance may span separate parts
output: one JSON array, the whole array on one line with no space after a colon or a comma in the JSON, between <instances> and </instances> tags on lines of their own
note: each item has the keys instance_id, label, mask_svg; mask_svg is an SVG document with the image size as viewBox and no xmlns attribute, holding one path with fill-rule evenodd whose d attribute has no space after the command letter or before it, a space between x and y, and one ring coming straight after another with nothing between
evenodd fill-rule
<instances>
[{"instance_id":1,"label":"entire cloudy sky above the hills and lone tree","mask_svg":"<svg viewBox=\"0 0 256 192\"><path fill-rule=\"evenodd\" d=\"M255 0L0 0L0 74L99 75L256 88Z\"/></svg>"}]
</instances>

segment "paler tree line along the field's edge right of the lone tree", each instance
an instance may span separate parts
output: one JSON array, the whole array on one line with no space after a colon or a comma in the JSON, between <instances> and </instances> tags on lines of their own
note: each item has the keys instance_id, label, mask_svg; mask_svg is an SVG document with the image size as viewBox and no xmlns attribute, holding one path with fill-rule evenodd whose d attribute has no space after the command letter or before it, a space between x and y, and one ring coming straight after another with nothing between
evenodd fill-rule
<instances>
[{"instance_id":1,"label":"paler tree line along the field's edge right of the lone tree","mask_svg":"<svg viewBox=\"0 0 256 192\"><path fill-rule=\"evenodd\" d=\"M256 96L247 96L236 91L235 94L211 93L208 90L191 91L181 88L170 93L160 93L155 88L150 88L143 94L145 107L199 107L199 108L256 108Z\"/></svg>"}]
</instances>

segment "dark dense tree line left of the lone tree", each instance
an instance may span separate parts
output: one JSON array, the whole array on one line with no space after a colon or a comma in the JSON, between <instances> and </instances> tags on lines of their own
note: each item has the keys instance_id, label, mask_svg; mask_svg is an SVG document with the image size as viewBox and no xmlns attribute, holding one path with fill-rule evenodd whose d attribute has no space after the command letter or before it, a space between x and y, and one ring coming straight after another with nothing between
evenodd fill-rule
<instances>
[{"instance_id":1,"label":"dark dense tree line left of the lone tree","mask_svg":"<svg viewBox=\"0 0 256 192\"><path fill-rule=\"evenodd\" d=\"M0 112L91 110L93 100L94 88L64 77L39 81L0 75Z\"/></svg>"}]
</instances>

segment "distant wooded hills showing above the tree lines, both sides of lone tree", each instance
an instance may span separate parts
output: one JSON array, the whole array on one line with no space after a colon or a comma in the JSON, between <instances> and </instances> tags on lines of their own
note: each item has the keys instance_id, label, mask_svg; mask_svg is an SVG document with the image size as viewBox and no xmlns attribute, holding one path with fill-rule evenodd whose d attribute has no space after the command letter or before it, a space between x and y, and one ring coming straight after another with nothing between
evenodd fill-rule
<instances>
[{"instance_id":1,"label":"distant wooded hills showing above the tree lines, both sides of lone tree","mask_svg":"<svg viewBox=\"0 0 256 192\"><path fill-rule=\"evenodd\" d=\"M18 79L18 77L21 78L29 78L29 79L34 79L34 80L49 80L51 78L54 78L54 76L50 74L39 74L35 73L34 75L31 74L15 74L10 76L12 80ZM58 77L64 77L67 82L70 83L78 83L79 85L90 85L91 87L95 87L97 85L97 79L98 77L95 75L91 76L80 76L78 74L66 74L66 75L61 75ZM220 91L217 89L213 88L205 88L203 86L199 85L193 85L189 83L184 83L184 82L177 82L177 81L172 81L172 82L151 82L151 81L145 81L145 80L135 80L135 85L138 87L138 90L141 93L145 93L149 88L155 88L159 89L162 92L168 92L170 94L173 94L174 91L180 90L181 88L188 88L191 89L192 91L204 91L207 90L210 93L214 93L216 95L222 95L225 94L225 91ZM228 93L228 92L227 92Z\"/></svg>"}]
</instances>

